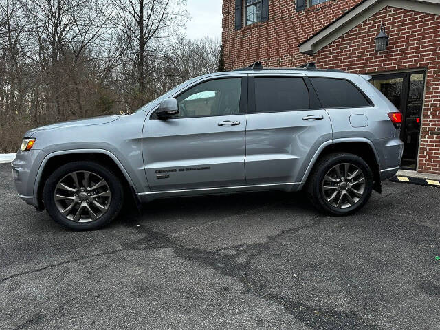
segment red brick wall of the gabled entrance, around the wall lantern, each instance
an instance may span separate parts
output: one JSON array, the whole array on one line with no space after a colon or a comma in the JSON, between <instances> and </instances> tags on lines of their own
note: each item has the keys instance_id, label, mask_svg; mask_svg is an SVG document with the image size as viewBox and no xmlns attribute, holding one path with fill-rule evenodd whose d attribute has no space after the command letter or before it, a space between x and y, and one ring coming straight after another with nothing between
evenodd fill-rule
<instances>
[{"instance_id":1,"label":"red brick wall of the gabled entrance, around the wall lantern","mask_svg":"<svg viewBox=\"0 0 440 330\"><path fill-rule=\"evenodd\" d=\"M384 23L390 44L374 51ZM355 73L426 69L426 97L421 122L419 171L440 174L440 17L386 7L317 52L318 67Z\"/></svg>"}]
</instances>

